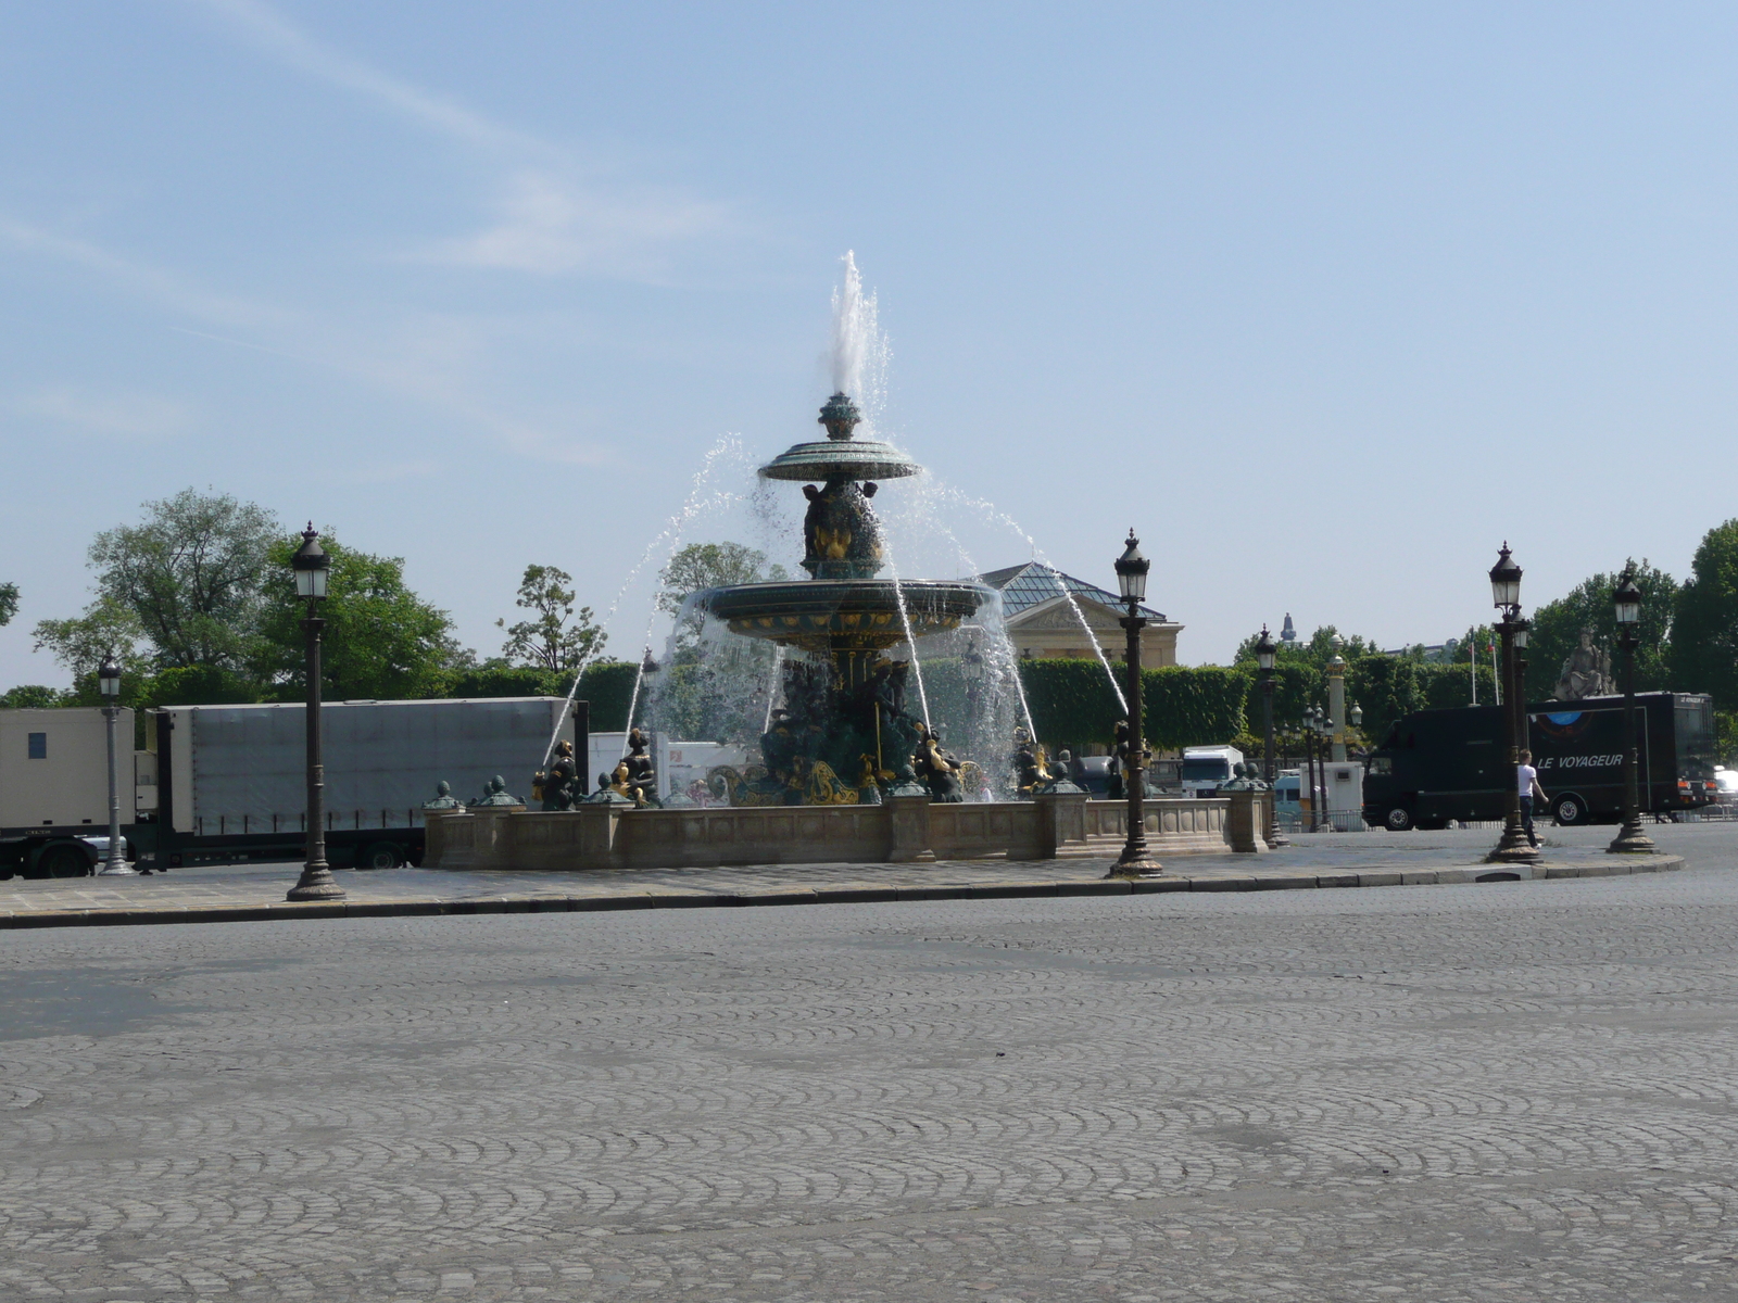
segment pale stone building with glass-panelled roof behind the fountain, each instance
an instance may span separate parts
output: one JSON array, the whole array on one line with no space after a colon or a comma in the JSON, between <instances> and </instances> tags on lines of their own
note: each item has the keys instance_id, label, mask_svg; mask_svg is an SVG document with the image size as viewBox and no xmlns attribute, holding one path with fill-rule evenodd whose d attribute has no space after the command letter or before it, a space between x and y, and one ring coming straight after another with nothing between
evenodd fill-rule
<instances>
[{"instance_id":1,"label":"pale stone building with glass-panelled roof behind the fountain","mask_svg":"<svg viewBox=\"0 0 1738 1303\"><path fill-rule=\"evenodd\" d=\"M1038 561L991 570L978 579L1001 591L1001 610L1017 655L1036 658L1097 655L1086 629L1081 629L1085 618L1104 653L1111 660L1123 660L1128 634L1118 620L1123 618L1124 606L1114 592ZM1072 608L1064 591L1072 594ZM1140 631L1140 664L1175 665L1177 634L1182 625L1151 606L1140 610L1149 622Z\"/></svg>"}]
</instances>

